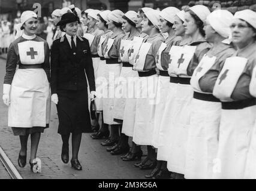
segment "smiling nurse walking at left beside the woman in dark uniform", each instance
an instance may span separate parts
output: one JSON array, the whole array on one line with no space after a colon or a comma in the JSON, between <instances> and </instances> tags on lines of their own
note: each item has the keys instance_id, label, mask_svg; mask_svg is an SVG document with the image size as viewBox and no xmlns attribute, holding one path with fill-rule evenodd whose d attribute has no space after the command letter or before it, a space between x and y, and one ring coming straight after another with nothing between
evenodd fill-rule
<instances>
[{"instance_id":1,"label":"smiling nurse walking at left beside the woman in dark uniform","mask_svg":"<svg viewBox=\"0 0 256 191\"><path fill-rule=\"evenodd\" d=\"M49 127L50 120L50 53L47 42L35 35L38 28L37 14L25 11L21 21L24 33L10 45L2 98L8 106L8 126L12 127L14 135L20 136L19 166L26 165L30 134L29 164L31 170L40 172L40 160L36 159L37 148L41 133Z\"/></svg>"}]
</instances>

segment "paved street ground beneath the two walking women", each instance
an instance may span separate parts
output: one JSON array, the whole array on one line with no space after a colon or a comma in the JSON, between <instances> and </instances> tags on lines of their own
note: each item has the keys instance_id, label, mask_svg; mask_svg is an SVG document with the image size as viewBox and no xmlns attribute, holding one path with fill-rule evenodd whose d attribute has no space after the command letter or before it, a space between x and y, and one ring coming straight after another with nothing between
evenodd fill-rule
<instances>
[{"instance_id":1,"label":"paved street ground beneath the two walking women","mask_svg":"<svg viewBox=\"0 0 256 191\"><path fill-rule=\"evenodd\" d=\"M0 93L5 75L5 60L0 58ZM89 134L83 134L79 159L83 171L75 171L70 163L65 165L61 161L61 137L57 134L58 116L52 104L50 128L41 135L38 157L42 161L42 173L34 174L30 171L29 164L25 168L17 165L20 150L19 137L15 137L11 128L7 127L7 106L0 99L0 145L23 178L144 178L149 171L141 171L134 167L134 162L124 162L120 156L112 156L106 148L100 145L100 140L92 140ZM71 144L70 144L71 145ZM30 141L28 144L29 156ZM70 147L71 149L71 147ZM143 151L145 148L143 148ZM29 158L29 157L28 157ZM0 177L1 177L0 167Z\"/></svg>"}]
</instances>

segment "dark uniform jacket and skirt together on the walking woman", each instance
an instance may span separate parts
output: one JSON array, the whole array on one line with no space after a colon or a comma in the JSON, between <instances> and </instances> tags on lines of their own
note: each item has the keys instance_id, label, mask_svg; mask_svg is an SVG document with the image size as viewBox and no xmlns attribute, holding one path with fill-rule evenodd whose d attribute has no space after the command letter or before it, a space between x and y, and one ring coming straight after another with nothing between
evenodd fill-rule
<instances>
[{"instance_id":1,"label":"dark uniform jacket and skirt together on the walking woman","mask_svg":"<svg viewBox=\"0 0 256 191\"><path fill-rule=\"evenodd\" d=\"M59 134L92 132L86 76L90 90L95 91L94 67L88 40L76 39L76 54L66 36L52 46L51 88L59 99Z\"/></svg>"}]
</instances>

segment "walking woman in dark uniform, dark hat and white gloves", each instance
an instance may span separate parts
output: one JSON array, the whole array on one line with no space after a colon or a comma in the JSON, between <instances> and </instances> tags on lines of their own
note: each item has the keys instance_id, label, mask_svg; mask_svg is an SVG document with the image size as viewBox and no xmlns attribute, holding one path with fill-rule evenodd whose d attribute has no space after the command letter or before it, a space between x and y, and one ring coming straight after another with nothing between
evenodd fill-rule
<instances>
[{"instance_id":1,"label":"walking woman in dark uniform, dark hat and white gloves","mask_svg":"<svg viewBox=\"0 0 256 191\"><path fill-rule=\"evenodd\" d=\"M95 79L89 42L77 36L78 23L77 16L66 13L57 24L66 35L53 42L51 88L52 101L57 105L59 116L58 133L63 141L61 159L68 163L68 140L72 133L71 165L82 170L78 160L82 133L91 131L86 76L91 98L95 97Z\"/></svg>"}]
</instances>

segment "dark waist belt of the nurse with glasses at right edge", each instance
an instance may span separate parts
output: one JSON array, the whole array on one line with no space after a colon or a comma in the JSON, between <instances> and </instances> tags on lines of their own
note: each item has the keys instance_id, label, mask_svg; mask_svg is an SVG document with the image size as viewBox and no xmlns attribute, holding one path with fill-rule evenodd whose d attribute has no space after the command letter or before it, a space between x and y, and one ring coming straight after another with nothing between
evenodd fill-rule
<instances>
[{"instance_id":1,"label":"dark waist belt of the nurse with glasses at right edge","mask_svg":"<svg viewBox=\"0 0 256 191\"><path fill-rule=\"evenodd\" d=\"M256 105L256 99L250 98L247 100L240 101L231 101L231 102L222 102L222 109L243 109L245 107L250 107Z\"/></svg>"}]
</instances>

